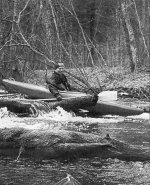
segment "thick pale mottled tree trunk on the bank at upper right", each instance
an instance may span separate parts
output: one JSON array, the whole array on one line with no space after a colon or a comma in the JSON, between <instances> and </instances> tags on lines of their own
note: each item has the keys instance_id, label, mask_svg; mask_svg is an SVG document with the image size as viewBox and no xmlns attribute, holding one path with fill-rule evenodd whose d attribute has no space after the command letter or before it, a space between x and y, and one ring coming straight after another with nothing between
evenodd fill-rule
<instances>
[{"instance_id":1,"label":"thick pale mottled tree trunk on the bank at upper right","mask_svg":"<svg viewBox=\"0 0 150 185\"><path fill-rule=\"evenodd\" d=\"M137 47L136 47L133 28L130 22L129 14L126 11L125 3L121 3L121 14L122 14L121 15L122 25L125 32L127 52L130 57L130 68L131 68L131 72L134 72L136 63L138 61Z\"/></svg>"}]
</instances>

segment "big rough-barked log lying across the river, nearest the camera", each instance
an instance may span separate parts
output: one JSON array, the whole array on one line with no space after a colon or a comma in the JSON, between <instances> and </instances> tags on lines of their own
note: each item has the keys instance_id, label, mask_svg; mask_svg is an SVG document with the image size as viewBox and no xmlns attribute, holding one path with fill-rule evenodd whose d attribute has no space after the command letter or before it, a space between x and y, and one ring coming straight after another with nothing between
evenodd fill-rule
<instances>
[{"instance_id":1,"label":"big rough-barked log lying across the river, nearest the camera","mask_svg":"<svg viewBox=\"0 0 150 185\"><path fill-rule=\"evenodd\" d=\"M150 150L94 134L60 130L52 132L23 128L0 130L0 155L37 159L77 159L98 156L130 161L150 160Z\"/></svg>"}]
</instances>

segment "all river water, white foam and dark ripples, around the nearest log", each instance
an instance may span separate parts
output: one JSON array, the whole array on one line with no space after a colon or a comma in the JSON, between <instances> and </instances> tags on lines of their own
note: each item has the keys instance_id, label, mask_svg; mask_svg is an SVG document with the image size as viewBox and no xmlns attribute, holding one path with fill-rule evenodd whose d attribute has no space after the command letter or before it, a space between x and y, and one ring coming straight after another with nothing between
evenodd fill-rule
<instances>
[{"instance_id":1,"label":"all river water, white foam and dark ripples, around the nearest log","mask_svg":"<svg viewBox=\"0 0 150 185\"><path fill-rule=\"evenodd\" d=\"M94 133L150 150L149 114L120 117L76 116L58 108L38 118L18 118L0 109L0 128L66 129ZM60 121L61 120L61 121ZM17 156L16 156L17 158ZM102 160L98 157L80 158L76 161L43 160L0 157L0 185L54 185L71 174L82 185L150 185L150 161L127 162L118 159Z\"/></svg>"}]
</instances>

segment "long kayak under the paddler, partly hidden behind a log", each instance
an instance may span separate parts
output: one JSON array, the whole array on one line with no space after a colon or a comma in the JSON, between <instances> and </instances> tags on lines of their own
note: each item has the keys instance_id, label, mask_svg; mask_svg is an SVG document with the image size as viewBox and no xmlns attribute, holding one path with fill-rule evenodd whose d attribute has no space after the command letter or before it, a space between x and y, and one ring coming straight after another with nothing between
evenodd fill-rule
<instances>
[{"instance_id":1,"label":"long kayak under the paddler, partly hidden behind a log","mask_svg":"<svg viewBox=\"0 0 150 185\"><path fill-rule=\"evenodd\" d=\"M52 102L54 100L57 101L56 98L54 98L54 96L50 93L50 91L42 86L8 79L3 79L2 83L7 90L25 94L31 99L40 99L47 102ZM85 97L89 94L73 91L60 91L60 95L63 99L70 99L75 97ZM102 101L101 99L98 100L95 106L86 107L85 110L89 111L89 113L97 115L111 114L120 116L139 115L144 112L144 110L140 108L122 105L116 103L115 101Z\"/></svg>"}]
</instances>

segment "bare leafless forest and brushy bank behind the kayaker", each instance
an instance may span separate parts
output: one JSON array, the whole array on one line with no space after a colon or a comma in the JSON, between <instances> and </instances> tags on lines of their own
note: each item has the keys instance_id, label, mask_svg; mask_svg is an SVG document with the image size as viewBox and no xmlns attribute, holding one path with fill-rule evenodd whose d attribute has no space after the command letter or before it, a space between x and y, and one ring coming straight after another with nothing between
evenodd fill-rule
<instances>
[{"instance_id":1,"label":"bare leafless forest and brushy bank behind the kayaker","mask_svg":"<svg viewBox=\"0 0 150 185\"><path fill-rule=\"evenodd\" d=\"M80 87L149 98L149 53L149 0L0 0L1 80L43 84L63 62Z\"/></svg>"}]
</instances>

